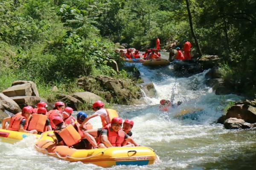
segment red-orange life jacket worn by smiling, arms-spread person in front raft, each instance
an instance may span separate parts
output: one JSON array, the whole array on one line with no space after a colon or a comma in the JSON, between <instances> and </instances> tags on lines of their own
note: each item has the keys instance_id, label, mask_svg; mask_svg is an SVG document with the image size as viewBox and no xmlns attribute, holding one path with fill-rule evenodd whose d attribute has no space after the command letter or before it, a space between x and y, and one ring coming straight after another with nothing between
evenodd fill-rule
<instances>
[{"instance_id":1,"label":"red-orange life jacket worn by smiling, arms-spread person in front raft","mask_svg":"<svg viewBox=\"0 0 256 170\"><path fill-rule=\"evenodd\" d=\"M125 142L125 132L120 129L118 132L111 130L111 125L105 127L108 130L108 141L112 144L113 147L120 147L122 143ZM100 142L101 138L99 138Z\"/></svg>"}]
</instances>

